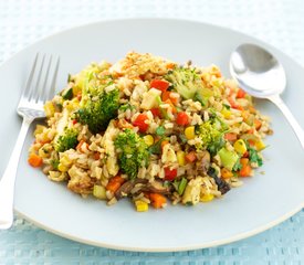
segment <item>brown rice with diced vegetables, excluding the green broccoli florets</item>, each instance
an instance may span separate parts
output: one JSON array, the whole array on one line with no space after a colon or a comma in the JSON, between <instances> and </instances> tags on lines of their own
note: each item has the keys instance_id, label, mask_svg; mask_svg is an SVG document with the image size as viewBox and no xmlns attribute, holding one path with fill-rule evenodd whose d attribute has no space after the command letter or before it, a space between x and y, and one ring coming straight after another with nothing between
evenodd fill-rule
<instances>
[{"instance_id":1,"label":"brown rice with diced vegetables, excluding the green broccoli florets","mask_svg":"<svg viewBox=\"0 0 304 265\"><path fill-rule=\"evenodd\" d=\"M252 98L234 81L223 78L217 66L198 67L192 66L191 62L182 67L195 71L202 87L211 91L211 95L205 104L196 97L184 98L175 84L168 82L169 100L158 102L157 108L163 115L155 115L146 104L143 105L153 89L150 84L154 80L166 81L166 76L176 67L180 65L163 57L130 52L113 65L107 62L92 63L81 73L70 76L63 91L72 88L72 96L64 99L59 93L45 104L46 125L36 126L29 157L35 155L41 158L41 163L35 166L42 168L50 180L65 182L71 191L82 197L93 194L107 204L127 197L134 201L137 211L147 211L149 205L165 208L167 201L184 205L210 202L222 197L230 188L240 187L241 178L252 177L254 169L262 165L263 138L272 134L269 118L254 108ZM133 106L118 109L108 127L97 134L91 132L86 124L75 119L83 100L82 80L90 70L94 70L93 78L96 80L111 76L114 86L119 89L119 104ZM111 91L112 87L113 84L105 89ZM163 93L159 91L160 98ZM177 123L179 113L187 115L182 125ZM146 131L139 131L134 126L139 114L147 117ZM199 126L214 116L226 128L221 136L221 148L238 155L233 168L227 168L218 152L210 153L198 132ZM77 145L56 151L55 141L65 128L78 131ZM160 153L150 152L148 162L141 163L137 177L133 179L122 170L119 150L114 142L126 128L143 138L148 150L157 141L166 139ZM163 129L163 138L159 128ZM245 147L239 150L237 141L244 142ZM241 171L244 167L247 176ZM168 171L170 176L166 176ZM119 186L116 190L108 189L108 183L117 176L122 180ZM180 187L181 182L184 187ZM151 194L158 194L161 203L155 203Z\"/></svg>"}]
</instances>

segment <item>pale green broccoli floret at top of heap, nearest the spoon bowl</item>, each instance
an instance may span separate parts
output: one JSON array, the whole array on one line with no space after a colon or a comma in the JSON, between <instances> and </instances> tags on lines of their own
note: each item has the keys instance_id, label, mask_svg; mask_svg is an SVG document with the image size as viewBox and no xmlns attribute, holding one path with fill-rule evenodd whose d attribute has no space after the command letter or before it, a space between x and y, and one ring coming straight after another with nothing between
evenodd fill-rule
<instances>
[{"instance_id":1,"label":"pale green broccoli floret at top of heap, nearest the spoon bowl","mask_svg":"<svg viewBox=\"0 0 304 265\"><path fill-rule=\"evenodd\" d=\"M197 91L202 87L201 78L196 73L196 68L179 66L169 71L165 78L172 83L174 88L185 99L193 98Z\"/></svg>"}]
</instances>

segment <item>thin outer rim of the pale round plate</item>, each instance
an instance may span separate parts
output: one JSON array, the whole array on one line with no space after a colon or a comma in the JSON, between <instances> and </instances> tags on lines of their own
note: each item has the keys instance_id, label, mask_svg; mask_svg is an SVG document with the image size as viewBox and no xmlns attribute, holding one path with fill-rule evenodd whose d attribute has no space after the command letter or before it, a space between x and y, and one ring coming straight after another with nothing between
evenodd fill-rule
<instances>
[{"instance_id":1,"label":"thin outer rim of the pale round plate","mask_svg":"<svg viewBox=\"0 0 304 265\"><path fill-rule=\"evenodd\" d=\"M136 22L136 21L143 21L143 20L144 21L169 21L169 22L196 23L198 25L203 25L203 26L207 26L207 28L211 26L211 28L216 28L216 29L219 29L219 30L223 30L223 31L228 31L228 32L239 34L239 35L244 36L244 38L250 38L252 41L258 42L258 43L266 46L268 49L271 49L271 50L273 50L273 51L275 51L280 54L283 54L285 57L291 60L297 67L301 67L304 71L304 66L298 61L291 57L289 54L284 53L283 51L279 50L277 47L264 42L263 40L261 40L259 38L255 38L255 36L252 36L250 34L247 34L244 32L238 31L238 30L229 28L229 26L218 25L218 24L213 24L213 23L199 21L199 20L178 19L178 18L161 18L161 17L160 18L153 18L153 17L143 17L143 18L137 17L136 18L136 17L134 17L134 18L105 19L105 20L99 20L99 21L82 23L82 24L77 24L77 25L74 25L74 26L69 26L69 28L63 29L63 30L57 30L57 31L55 31L51 34L48 34L45 36L36 39L33 43L30 43L30 44L25 45L24 47L22 47L20 51L11 54L8 59L6 59L0 64L0 71L1 71L2 67L6 66L6 64L9 64L20 53L24 53L28 50L30 50L32 46L34 46L34 45L36 45L41 42L48 41L49 39L52 39L56 35L64 34L64 33L71 32L71 31L76 31L77 29L82 29L82 28L94 26L94 25L97 25L97 24L107 24L107 23L117 23L117 22L122 23L124 21L134 21L134 22ZM65 237L65 239L72 240L72 241L76 241L76 242L81 242L81 243L84 243L84 244L99 246L99 247L106 247L106 248L112 248L112 250L133 251L133 252L179 252L179 251L190 251L190 250L219 246L219 245L232 243L232 242L235 242L235 241L240 241L240 240L256 235L261 232L264 232L264 231L282 223L283 221L287 220L292 215L300 212L302 209L304 209L304 202L300 203L297 206L290 210L287 213L281 215L280 218L277 218L277 219L275 219L275 220L273 220L269 223L256 226L253 230L245 231L243 233L239 233L239 234L235 234L233 236L228 236L228 237L224 237L224 239L221 239L221 240L216 240L216 241L208 242L208 243L193 244L193 245L188 244L187 246L178 246L178 247L174 247L174 248L170 247L170 246L160 247L160 248L154 247L154 246L148 247L148 248L147 247L140 247L140 246L138 246L138 247L128 247L126 245L107 244L107 243L103 243L103 242L90 241L90 240L85 240L85 239L82 239L82 237L78 237L78 236L66 234L66 233L57 231L57 230L53 230L52 227L50 227L48 225L44 225L43 223L40 223L40 222L35 221L34 219L28 216L25 213L20 212L18 209L15 209L15 205L13 206L13 209L14 209L15 213L18 213L23 219L30 221L31 223L35 224L38 227L41 227L45 231L49 231L49 232L51 232L53 234L56 234L56 235L60 235L62 237Z\"/></svg>"}]
</instances>

